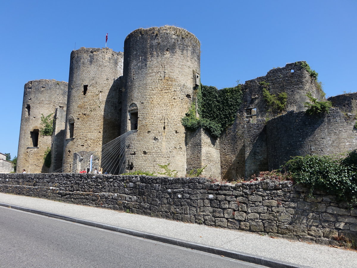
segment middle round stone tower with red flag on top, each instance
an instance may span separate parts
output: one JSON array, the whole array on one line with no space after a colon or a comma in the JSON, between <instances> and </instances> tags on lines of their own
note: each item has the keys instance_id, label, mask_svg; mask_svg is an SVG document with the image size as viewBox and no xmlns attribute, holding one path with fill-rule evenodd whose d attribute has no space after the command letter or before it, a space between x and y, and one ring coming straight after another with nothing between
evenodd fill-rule
<instances>
[{"instance_id":1,"label":"middle round stone tower with red flag on top","mask_svg":"<svg viewBox=\"0 0 357 268\"><path fill-rule=\"evenodd\" d=\"M101 147L120 135L123 53L80 48L71 53L62 172L100 168Z\"/></svg>"}]
</instances>

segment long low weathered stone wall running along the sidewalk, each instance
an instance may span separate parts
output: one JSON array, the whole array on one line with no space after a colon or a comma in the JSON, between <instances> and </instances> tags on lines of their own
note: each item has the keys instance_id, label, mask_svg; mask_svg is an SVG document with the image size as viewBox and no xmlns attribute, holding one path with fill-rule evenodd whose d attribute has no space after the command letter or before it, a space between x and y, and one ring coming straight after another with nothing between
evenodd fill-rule
<instances>
[{"instance_id":1,"label":"long low weathered stone wall running along the sidewalk","mask_svg":"<svg viewBox=\"0 0 357 268\"><path fill-rule=\"evenodd\" d=\"M291 182L219 184L205 178L93 174L0 174L0 191L152 217L338 244L357 239L357 207L331 195L307 198Z\"/></svg>"}]
</instances>

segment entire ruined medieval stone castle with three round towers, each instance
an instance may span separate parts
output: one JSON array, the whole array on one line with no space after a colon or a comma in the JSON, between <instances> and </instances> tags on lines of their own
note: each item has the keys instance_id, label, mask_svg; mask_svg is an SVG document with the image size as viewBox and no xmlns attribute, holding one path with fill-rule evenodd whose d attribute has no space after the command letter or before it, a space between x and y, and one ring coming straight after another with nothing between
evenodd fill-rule
<instances>
[{"instance_id":1,"label":"entire ruined medieval stone castle with three round towers","mask_svg":"<svg viewBox=\"0 0 357 268\"><path fill-rule=\"evenodd\" d=\"M301 63L241 85L234 123L216 138L202 128L185 129L181 122L200 90L195 35L174 26L137 29L126 37L124 53L74 50L68 83L25 84L17 172L79 172L90 163L112 174L157 172L159 164L170 163L180 177L205 167L205 177L235 180L277 169L290 156L356 149L357 93L329 98L328 114L306 114L308 93L324 97ZM268 107L264 85L270 94L286 93L281 113ZM53 131L44 133L52 118ZM129 137L126 133L130 139L112 142Z\"/></svg>"}]
</instances>

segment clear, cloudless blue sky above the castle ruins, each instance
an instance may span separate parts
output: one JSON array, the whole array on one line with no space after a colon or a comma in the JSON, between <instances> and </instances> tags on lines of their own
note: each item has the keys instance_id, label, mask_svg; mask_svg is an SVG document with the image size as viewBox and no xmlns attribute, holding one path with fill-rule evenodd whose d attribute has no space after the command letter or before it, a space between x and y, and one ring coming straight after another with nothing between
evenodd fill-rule
<instances>
[{"instance_id":1,"label":"clear, cloudless blue sky above the castle ruins","mask_svg":"<svg viewBox=\"0 0 357 268\"><path fill-rule=\"evenodd\" d=\"M355 92L356 0L3 1L0 152L17 155L24 84L68 81L75 48L123 51L133 30L175 25L201 41L201 82L224 88L306 60L327 96Z\"/></svg>"}]
</instances>

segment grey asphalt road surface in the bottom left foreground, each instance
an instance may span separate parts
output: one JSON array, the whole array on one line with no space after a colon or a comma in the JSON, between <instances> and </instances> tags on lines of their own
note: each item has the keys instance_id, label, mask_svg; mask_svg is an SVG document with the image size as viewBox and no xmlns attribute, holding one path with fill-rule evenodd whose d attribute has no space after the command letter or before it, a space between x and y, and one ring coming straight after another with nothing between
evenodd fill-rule
<instances>
[{"instance_id":1,"label":"grey asphalt road surface in the bottom left foreground","mask_svg":"<svg viewBox=\"0 0 357 268\"><path fill-rule=\"evenodd\" d=\"M0 207L0 267L262 267Z\"/></svg>"}]
</instances>

